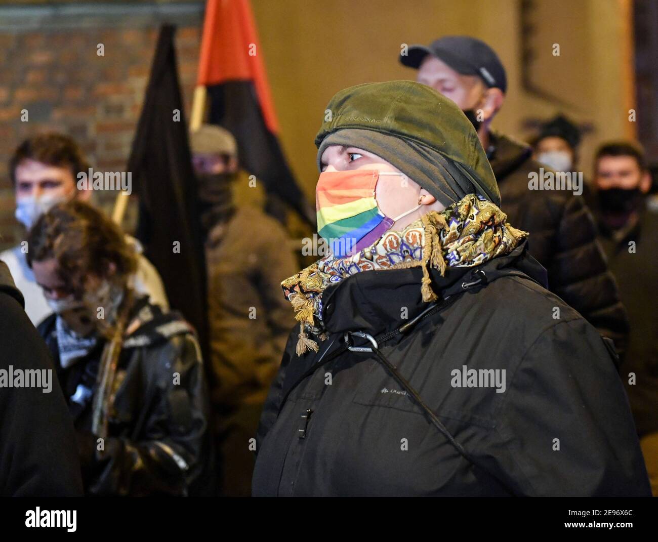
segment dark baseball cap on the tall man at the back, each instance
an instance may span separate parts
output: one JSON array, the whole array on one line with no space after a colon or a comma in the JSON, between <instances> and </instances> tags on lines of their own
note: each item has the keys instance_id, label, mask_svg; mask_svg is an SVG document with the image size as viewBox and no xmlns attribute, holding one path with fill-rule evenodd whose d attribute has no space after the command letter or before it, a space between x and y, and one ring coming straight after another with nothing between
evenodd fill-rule
<instances>
[{"instance_id":1,"label":"dark baseball cap on the tall man at the back","mask_svg":"<svg viewBox=\"0 0 658 542\"><path fill-rule=\"evenodd\" d=\"M427 55L434 55L455 72L476 75L486 86L507 91L505 68L498 55L484 41L470 36L443 36L429 47L411 45L408 55L400 55L400 62L409 68L419 68Z\"/></svg>"}]
</instances>

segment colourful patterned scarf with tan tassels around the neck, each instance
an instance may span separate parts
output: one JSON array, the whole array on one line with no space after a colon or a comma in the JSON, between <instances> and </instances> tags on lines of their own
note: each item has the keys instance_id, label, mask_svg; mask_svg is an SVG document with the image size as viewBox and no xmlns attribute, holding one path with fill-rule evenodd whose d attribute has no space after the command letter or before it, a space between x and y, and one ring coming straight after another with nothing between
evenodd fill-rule
<instances>
[{"instance_id":1,"label":"colourful patterned scarf with tan tassels around the neck","mask_svg":"<svg viewBox=\"0 0 658 542\"><path fill-rule=\"evenodd\" d=\"M386 232L360 253L335 258L331 253L281 283L299 321L297 355L318 351L313 333L326 339L322 292L343 278L368 271L422 266L423 301L438 299L429 267L443 276L446 267L472 267L515 249L528 235L505 222L507 215L486 199L468 194L442 212L431 211L401 232Z\"/></svg>"}]
</instances>

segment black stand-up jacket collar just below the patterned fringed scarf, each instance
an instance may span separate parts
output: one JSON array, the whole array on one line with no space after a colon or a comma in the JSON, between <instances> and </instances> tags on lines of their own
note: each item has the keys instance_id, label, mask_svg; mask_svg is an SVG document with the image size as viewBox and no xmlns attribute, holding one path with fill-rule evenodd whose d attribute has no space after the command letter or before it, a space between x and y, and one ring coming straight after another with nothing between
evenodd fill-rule
<instances>
[{"instance_id":1,"label":"black stand-up jacket collar just below the patterned fringed scarf","mask_svg":"<svg viewBox=\"0 0 658 542\"><path fill-rule=\"evenodd\" d=\"M443 299L473 291L504 276L527 276L546 287L546 270L528 253L524 239L508 255L474 267L447 268L441 276L430 270L432 289ZM429 305L422 301L422 269L367 271L328 287L323 295L322 321L328 333L361 331L370 335L395 330Z\"/></svg>"}]
</instances>

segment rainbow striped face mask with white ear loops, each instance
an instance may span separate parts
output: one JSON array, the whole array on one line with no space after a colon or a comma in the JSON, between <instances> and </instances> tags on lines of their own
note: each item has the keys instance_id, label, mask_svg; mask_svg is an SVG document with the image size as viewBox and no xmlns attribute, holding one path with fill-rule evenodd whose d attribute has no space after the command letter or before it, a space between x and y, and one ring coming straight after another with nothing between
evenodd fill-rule
<instances>
[{"instance_id":1,"label":"rainbow striped face mask with white ear loops","mask_svg":"<svg viewBox=\"0 0 658 542\"><path fill-rule=\"evenodd\" d=\"M375 187L382 175L405 174L377 170L325 171L315 188L318 234L335 257L358 253L378 241L396 220L420 205L389 218L378 207Z\"/></svg>"}]
</instances>

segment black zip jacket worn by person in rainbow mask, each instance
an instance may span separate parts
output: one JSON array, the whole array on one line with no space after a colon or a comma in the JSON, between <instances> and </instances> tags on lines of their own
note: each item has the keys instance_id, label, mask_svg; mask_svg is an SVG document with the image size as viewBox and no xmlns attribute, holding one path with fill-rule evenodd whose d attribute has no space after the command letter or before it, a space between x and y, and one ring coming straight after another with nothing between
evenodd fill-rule
<instances>
[{"instance_id":1,"label":"black zip jacket worn by person in rainbow mask","mask_svg":"<svg viewBox=\"0 0 658 542\"><path fill-rule=\"evenodd\" d=\"M270 389L253 495L649 496L611 341L526 248L433 271L434 305L420 268L328 287L327 339L297 357L294 330Z\"/></svg>"}]
</instances>

